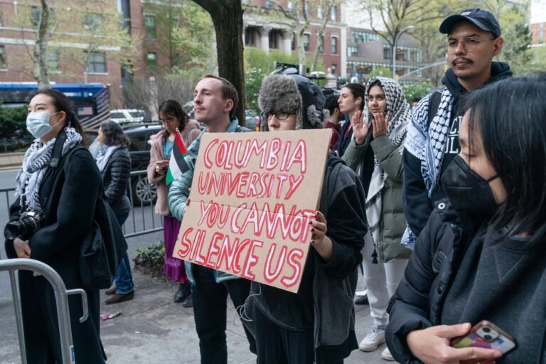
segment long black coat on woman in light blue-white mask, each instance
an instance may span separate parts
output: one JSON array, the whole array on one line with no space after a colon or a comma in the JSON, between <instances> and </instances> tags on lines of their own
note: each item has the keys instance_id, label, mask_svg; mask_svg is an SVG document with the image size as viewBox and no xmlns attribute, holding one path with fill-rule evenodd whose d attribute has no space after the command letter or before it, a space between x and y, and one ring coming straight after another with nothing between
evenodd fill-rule
<instances>
[{"instance_id":1,"label":"long black coat on woman in light blue-white mask","mask_svg":"<svg viewBox=\"0 0 546 364\"><path fill-rule=\"evenodd\" d=\"M87 149L65 154L55 171L48 168L40 189L44 222L29 240L31 259L50 265L60 275L67 289L81 288L80 245L91 228L97 200L102 198L102 178ZM69 163L68 163L69 162ZM68 163L68 166L65 164ZM50 182L48 188L42 188ZM19 200L10 207L10 221L19 219ZM6 232L4 235L7 237ZM6 253L15 258L13 241L6 238ZM28 363L45 363L55 355L60 363L60 343L56 319L55 294L43 277L19 271L19 286ZM75 358L78 364L103 363L100 343L99 291L87 290L89 319L80 323L82 300L68 296ZM50 344L49 344L50 343ZM51 348L53 346L53 348ZM53 350L53 352L52 352Z\"/></svg>"}]
</instances>

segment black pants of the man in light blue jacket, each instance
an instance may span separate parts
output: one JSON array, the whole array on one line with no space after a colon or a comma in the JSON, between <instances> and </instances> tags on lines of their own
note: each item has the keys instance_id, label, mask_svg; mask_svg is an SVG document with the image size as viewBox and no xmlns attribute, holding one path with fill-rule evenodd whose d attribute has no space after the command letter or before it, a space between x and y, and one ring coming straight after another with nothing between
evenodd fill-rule
<instances>
[{"instance_id":1,"label":"black pants of the man in light blue jacket","mask_svg":"<svg viewBox=\"0 0 546 364\"><path fill-rule=\"evenodd\" d=\"M203 279L206 274L204 267L193 265L196 274L196 285L193 287L193 314L196 321L196 331L199 337L199 350L202 364L228 363L228 346L225 341L228 294L235 308L242 306L250 292L250 281L247 279L232 279L216 283L213 279ZM210 269L209 269L210 270ZM210 272L212 278L212 271ZM240 313L237 311L237 313ZM245 328L245 326L243 326ZM247 331L250 351L256 353L254 336Z\"/></svg>"}]
</instances>

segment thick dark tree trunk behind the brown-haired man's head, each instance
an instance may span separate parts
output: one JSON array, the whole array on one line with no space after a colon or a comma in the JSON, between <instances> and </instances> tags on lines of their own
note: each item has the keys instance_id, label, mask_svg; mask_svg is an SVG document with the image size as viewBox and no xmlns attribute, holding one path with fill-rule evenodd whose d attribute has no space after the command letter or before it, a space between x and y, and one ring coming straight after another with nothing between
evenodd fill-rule
<instances>
[{"instance_id":1,"label":"thick dark tree trunk behind the brown-haired man's head","mask_svg":"<svg viewBox=\"0 0 546 364\"><path fill-rule=\"evenodd\" d=\"M235 116L245 124L245 63L242 56L242 6L240 0L193 0L213 19L218 53L218 74L239 92Z\"/></svg>"}]
</instances>

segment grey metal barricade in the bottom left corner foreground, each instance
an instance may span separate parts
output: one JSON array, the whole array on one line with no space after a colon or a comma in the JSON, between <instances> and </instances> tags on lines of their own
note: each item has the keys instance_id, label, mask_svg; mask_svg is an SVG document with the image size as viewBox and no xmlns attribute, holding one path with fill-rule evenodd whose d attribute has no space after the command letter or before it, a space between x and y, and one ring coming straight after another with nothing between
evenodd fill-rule
<instances>
[{"instance_id":1,"label":"grey metal barricade in the bottom left corner foreground","mask_svg":"<svg viewBox=\"0 0 546 364\"><path fill-rule=\"evenodd\" d=\"M27 364L25 340L23 333L23 316L21 312L21 297L18 293L18 282L15 277L16 270L30 270L42 275L55 291L55 302L57 304L57 317L59 323L60 350L63 355L62 364L75 363L74 346L72 340L72 328L70 326L70 311L68 310L68 296L70 294L81 294L83 316L80 322L87 320L89 312L87 309L87 294L83 289L66 289L63 279L48 264L34 259L8 259L0 261L0 272L9 271L11 281L11 294L14 297L15 317L19 338L19 349L21 350L21 363Z\"/></svg>"}]
</instances>

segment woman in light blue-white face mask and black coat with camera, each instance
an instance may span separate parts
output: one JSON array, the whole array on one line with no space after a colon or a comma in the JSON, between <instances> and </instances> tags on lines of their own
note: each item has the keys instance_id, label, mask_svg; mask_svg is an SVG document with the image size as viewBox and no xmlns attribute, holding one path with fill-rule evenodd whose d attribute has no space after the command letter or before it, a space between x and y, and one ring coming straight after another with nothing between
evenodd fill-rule
<instances>
[{"instance_id":1,"label":"woman in light blue-white face mask and black coat with camera","mask_svg":"<svg viewBox=\"0 0 546 364\"><path fill-rule=\"evenodd\" d=\"M82 127L62 93L38 91L28 105L26 125L36 139L17 175L16 201L4 230L6 253L40 260L60 274L67 289L81 288L80 247L102 198L100 172L81 147ZM57 166L50 165L54 155L60 156ZM18 276L28 363L62 363L53 288L33 272L21 270ZM89 319L82 323L80 296L68 296L75 361L104 363L99 291L85 291Z\"/></svg>"}]
</instances>

